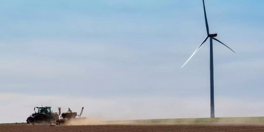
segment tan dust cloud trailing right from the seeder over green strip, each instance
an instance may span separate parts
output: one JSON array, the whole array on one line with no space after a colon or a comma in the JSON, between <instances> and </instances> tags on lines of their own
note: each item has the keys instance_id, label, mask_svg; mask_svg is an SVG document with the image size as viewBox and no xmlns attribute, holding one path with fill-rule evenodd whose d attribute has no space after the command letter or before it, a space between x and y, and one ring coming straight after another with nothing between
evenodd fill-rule
<instances>
[{"instance_id":1,"label":"tan dust cloud trailing right from the seeder over green strip","mask_svg":"<svg viewBox=\"0 0 264 132\"><path fill-rule=\"evenodd\" d=\"M264 125L264 117L229 117L229 118L190 118L190 119L149 119L105 121L98 117L75 118L65 125L177 125L177 124L248 124Z\"/></svg>"}]
</instances>

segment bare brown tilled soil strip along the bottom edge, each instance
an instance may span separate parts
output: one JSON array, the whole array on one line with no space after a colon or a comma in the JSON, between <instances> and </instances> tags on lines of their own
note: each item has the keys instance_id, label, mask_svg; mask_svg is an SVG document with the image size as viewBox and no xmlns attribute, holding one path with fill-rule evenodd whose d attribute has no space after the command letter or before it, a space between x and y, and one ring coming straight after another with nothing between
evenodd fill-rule
<instances>
[{"instance_id":1,"label":"bare brown tilled soil strip along the bottom edge","mask_svg":"<svg viewBox=\"0 0 264 132\"><path fill-rule=\"evenodd\" d=\"M248 132L264 131L264 125L242 125L242 124L179 124L179 125L85 125L85 126L49 126L49 125L27 125L27 124L0 124L0 131L11 132L200 132L200 131L226 131L226 132Z\"/></svg>"}]
</instances>

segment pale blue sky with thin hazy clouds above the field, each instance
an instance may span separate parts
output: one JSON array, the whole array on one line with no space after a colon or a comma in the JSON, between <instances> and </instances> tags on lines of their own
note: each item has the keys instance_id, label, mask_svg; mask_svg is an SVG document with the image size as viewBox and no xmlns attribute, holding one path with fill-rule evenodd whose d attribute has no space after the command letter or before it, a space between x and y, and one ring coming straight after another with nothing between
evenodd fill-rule
<instances>
[{"instance_id":1,"label":"pale blue sky with thin hazy clouds above the field","mask_svg":"<svg viewBox=\"0 0 264 132\"><path fill-rule=\"evenodd\" d=\"M216 117L263 116L264 1L205 1ZM34 106L101 119L210 116L202 0L0 1L0 123ZM18 108L21 114L17 117ZM6 114L8 111L9 114Z\"/></svg>"}]
</instances>

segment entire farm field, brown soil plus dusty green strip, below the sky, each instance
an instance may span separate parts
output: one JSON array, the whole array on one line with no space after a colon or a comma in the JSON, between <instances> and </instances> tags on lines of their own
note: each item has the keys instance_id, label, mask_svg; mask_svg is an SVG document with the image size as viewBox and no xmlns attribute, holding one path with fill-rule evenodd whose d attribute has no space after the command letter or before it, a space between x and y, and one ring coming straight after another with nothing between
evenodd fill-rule
<instances>
[{"instance_id":1,"label":"entire farm field, brown soil plus dusty green strip, below the sky","mask_svg":"<svg viewBox=\"0 0 264 132\"><path fill-rule=\"evenodd\" d=\"M27 125L26 123L0 124L0 132L12 131L66 131L66 132L148 132L148 131L264 131L264 117L150 119L126 121L96 121L91 118L72 120L68 125Z\"/></svg>"}]
</instances>

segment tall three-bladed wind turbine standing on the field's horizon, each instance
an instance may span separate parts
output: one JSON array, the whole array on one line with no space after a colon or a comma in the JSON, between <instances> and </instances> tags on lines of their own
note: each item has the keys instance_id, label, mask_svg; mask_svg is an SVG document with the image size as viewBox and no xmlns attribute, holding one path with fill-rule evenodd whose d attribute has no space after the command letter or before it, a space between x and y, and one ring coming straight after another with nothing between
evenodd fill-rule
<instances>
[{"instance_id":1,"label":"tall three-bladed wind turbine standing on the field's horizon","mask_svg":"<svg viewBox=\"0 0 264 132\"><path fill-rule=\"evenodd\" d=\"M203 0L203 5L204 5L204 0ZM217 34L210 34L209 33L209 27L208 27L208 22L207 22L207 17L206 17L206 12L205 12L205 6L204 6L204 18L205 18L205 25L206 25L206 31L207 31L207 36L205 39L202 41L202 43L199 45L199 47L194 51L194 53L189 57L189 59L183 64L183 66L192 58L192 56L201 48L201 46L204 44L204 42L210 38L210 99L211 99L211 118L214 117L214 63L213 63L213 39L216 40L217 42L225 45L218 39L214 38L217 36ZM226 45L225 45L226 46ZM229 48L228 46L226 46ZM231 48L229 48L232 50ZM232 50L233 51L233 50ZM234 52L234 51L233 51ZM235 52L234 52L235 53ZM182 67L183 67L182 66Z\"/></svg>"}]
</instances>

